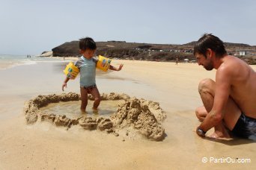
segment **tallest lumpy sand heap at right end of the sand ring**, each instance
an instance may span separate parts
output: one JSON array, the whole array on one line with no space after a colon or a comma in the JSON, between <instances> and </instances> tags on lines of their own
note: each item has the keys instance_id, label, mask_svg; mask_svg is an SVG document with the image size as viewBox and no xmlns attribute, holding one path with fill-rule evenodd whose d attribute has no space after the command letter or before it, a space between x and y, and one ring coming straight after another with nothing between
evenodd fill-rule
<instances>
[{"instance_id":1,"label":"tallest lumpy sand heap at right end of the sand ring","mask_svg":"<svg viewBox=\"0 0 256 170\"><path fill-rule=\"evenodd\" d=\"M157 121L156 116L150 112L149 107L151 110L153 110L152 107L155 107L162 113L159 104L153 101L148 102L137 98L127 100L124 104L120 104L117 112L111 116L114 127L123 128L132 125L147 138L156 141L162 140L165 130Z\"/></svg>"}]
</instances>

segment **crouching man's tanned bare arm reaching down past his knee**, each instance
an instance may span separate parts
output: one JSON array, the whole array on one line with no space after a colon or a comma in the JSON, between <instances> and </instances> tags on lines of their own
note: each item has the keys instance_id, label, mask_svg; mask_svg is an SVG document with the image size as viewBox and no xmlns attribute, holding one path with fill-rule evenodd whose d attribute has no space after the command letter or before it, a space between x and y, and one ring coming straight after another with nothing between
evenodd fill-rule
<instances>
[{"instance_id":1,"label":"crouching man's tanned bare arm reaching down past his knee","mask_svg":"<svg viewBox=\"0 0 256 170\"><path fill-rule=\"evenodd\" d=\"M213 108L210 110L210 113L207 114L204 122L201 123L198 129L207 132L207 130L215 127L222 121L231 91L231 77L232 72L229 68L222 66L222 68L217 70Z\"/></svg>"}]
</instances>

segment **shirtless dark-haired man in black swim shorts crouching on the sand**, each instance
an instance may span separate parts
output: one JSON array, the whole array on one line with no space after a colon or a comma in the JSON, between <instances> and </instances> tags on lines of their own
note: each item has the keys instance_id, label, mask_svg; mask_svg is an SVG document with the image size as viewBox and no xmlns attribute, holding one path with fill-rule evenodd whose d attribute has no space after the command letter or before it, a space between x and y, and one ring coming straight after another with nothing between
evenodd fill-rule
<instances>
[{"instance_id":1,"label":"shirtless dark-haired man in black swim shorts crouching on the sand","mask_svg":"<svg viewBox=\"0 0 256 170\"><path fill-rule=\"evenodd\" d=\"M204 106L195 114L201 122L198 136L214 127L213 138L235 136L256 139L256 72L243 60L227 54L222 40L204 34L194 47L199 66L216 69L216 81L204 79L198 86Z\"/></svg>"}]
</instances>

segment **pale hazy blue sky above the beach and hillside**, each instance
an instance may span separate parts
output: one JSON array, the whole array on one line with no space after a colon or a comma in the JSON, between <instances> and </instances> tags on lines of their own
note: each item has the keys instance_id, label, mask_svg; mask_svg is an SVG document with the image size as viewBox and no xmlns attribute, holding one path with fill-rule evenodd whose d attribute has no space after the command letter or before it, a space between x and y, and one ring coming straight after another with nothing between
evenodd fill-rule
<instances>
[{"instance_id":1,"label":"pale hazy blue sky above the beach and hillside","mask_svg":"<svg viewBox=\"0 0 256 170\"><path fill-rule=\"evenodd\" d=\"M92 37L185 44L211 33L256 45L255 0L0 0L0 54L41 54Z\"/></svg>"}]
</instances>

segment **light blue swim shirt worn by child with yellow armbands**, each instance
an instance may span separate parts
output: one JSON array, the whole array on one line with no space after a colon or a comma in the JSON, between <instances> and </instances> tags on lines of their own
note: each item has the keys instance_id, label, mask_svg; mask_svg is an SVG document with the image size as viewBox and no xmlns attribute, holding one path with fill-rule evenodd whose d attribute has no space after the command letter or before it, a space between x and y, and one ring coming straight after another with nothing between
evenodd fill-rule
<instances>
[{"instance_id":1,"label":"light blue swim shirt worn by child with yellow armbands","mask_svg":"<svg viewBox=\"0 0 256 170\"><path fill-rule=\"evenodd\" d=\"M95 76L97 61L97 57L87 59L82 56L75 62L75 66L80 70L80 86L87 87L96 84Z\"/></svg>"}]
</instances>

